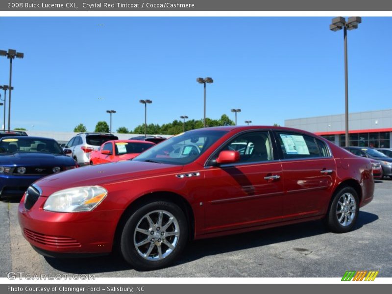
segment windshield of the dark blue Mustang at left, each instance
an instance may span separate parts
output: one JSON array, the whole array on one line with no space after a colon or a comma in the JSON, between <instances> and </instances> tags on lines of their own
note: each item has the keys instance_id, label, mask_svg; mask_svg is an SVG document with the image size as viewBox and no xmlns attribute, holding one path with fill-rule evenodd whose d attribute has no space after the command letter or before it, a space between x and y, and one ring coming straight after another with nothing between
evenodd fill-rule
<instances>
[{"instance_id":1,"label":"windshield of the dark blue Mustang at left","mask_svg":"<svg viewBox=\"0 0 392 294\"><path fill-rule=\"evenodd\" d=\"M47 152L52 154L64 154L56 141L44 138L2 138L0 141L0 153L15 152Z\"/></svg>"}]
</instances>

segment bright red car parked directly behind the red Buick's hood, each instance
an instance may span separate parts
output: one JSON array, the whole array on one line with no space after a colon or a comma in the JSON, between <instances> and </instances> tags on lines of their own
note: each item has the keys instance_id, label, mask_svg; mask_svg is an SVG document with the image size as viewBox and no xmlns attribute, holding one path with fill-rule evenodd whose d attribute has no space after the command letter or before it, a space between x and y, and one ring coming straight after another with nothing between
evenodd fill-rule
<instances>
[{"instance_id":1,"label":"bright red car parked directly behind the red Buick's hood","mask_svg":"<svg viewBox=\"0 0 392 294\"><path fill-rule=\"evenodd\" d=\"M90 154L90 165L132 159L155 143L138 140L112 140Z\"/></svg>"}]
</instances>

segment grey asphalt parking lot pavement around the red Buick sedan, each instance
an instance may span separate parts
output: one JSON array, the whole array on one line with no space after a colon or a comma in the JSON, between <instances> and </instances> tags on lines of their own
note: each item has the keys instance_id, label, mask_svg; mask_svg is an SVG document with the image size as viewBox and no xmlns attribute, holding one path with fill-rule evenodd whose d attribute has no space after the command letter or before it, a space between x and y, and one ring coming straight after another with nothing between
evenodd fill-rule
<instances>
[{"instance_id":1,"label":"grey asphalt parking lot pavement around the red Buick sedan","mask_svg":"<svg viewBox=\"0 0 392 294\"><path fill-rule=\"evenodd\" d=\"M346 270L379 270L392 276L392 180L376 181L373 201L361 209L355 229L328 232L321 221L195 241L172 267L133 270L118 255L53 259L36 253L22 237L19 199L0 201L0 277L78 273L96 277L342 277Z\"/></svg>"}]
</instances>

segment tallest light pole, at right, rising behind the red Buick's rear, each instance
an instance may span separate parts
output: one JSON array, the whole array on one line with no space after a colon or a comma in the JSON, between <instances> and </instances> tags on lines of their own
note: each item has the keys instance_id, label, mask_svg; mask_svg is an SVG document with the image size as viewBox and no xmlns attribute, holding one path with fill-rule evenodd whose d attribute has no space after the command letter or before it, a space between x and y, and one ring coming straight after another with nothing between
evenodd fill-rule
<instances>
[{"instance_id":1,"label":"tallest light pole, at right, rising behind the red Buick's rear","mask_svg":"<svg viewBox=\"0 0 392 294\"><path fill-rule=\"evenodd\" d=\"M359 16L349 17L346 21L344 17L336 17L332 19L332 24L329 25L331 31L337 32L343 28L343 38L344 38L344 104L345 104L345 146L349 146L348 138L348 69L347 69L347 30L353 30L358 28L358 24L362 22Z\"/></svg>"}]
</instances>

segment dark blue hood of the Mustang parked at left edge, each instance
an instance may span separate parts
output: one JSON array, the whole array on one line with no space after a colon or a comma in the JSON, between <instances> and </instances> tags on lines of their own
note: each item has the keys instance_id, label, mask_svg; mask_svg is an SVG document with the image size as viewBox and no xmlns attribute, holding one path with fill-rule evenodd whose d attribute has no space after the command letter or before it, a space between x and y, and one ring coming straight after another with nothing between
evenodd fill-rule
<instances>
[{"instance_id":1,"label":"dark blue hood of the Mustang parked at left edge","mask_svg":"<svg viewBox=\"0 0 392 294\"><path fill-rule=\"evenodd\" d=\"M0 164L13 166L74 166L75 161L65 154L15 152L0 154Z\"/></svg>"}]
</instances>

